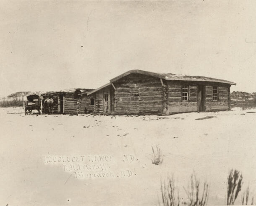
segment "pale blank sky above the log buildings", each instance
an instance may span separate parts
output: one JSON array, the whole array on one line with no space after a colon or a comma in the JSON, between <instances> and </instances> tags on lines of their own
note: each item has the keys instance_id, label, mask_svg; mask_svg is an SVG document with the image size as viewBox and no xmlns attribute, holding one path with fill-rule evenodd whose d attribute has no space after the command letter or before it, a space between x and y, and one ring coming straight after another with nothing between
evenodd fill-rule
<instances>
[{"instance_id":1,"label":"pale blank sky above the log buildings","mask_svg":"<svg viewBox=\"0 0 256 206\"><path fill-rule=\"evenodd\" d=\"M256 1L0 1L0 96L98 88L131 69L256 91Z\"/></svg>"}]
</instances>

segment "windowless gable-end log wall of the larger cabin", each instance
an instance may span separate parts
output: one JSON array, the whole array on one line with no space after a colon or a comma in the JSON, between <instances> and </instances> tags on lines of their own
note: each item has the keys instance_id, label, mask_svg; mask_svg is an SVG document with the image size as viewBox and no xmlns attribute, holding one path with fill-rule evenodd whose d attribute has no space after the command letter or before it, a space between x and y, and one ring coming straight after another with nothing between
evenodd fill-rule
<instances>
[{"instance_id":1,"label":"windowless gable-end log wall of the larger cabin","mask_svg":"<svg viewBox=\"0 0 256 206\"><path fill-rule=\"evenodd\" d=\"M114 86L116 114L162 114L164 90L159 78L130 74L114 82Z\"/></svg>"}]
</instances>

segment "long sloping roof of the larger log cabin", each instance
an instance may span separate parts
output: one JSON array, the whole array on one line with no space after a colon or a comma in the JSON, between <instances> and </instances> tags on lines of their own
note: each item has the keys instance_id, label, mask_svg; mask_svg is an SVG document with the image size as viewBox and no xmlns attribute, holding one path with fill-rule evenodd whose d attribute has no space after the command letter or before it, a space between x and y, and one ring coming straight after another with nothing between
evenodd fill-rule
<instances>
[{"instance_id":1,"label":"long sloping roof of the larger log cabin","mask_svg":"<svg viewBox=\"0 0 256 206\"><path fill-rule=\"evenodd\" d=\"M187 75L177 75L177 74L172 74L172 73L155 73L155 72L149 72L149 71L144 71L144 70L129 70L115 78L110 79L110 83L107 83L98 89L94 89L93 91L89 92L82 92L82 94L93 94L96 91L99 91L100 89L103 89L104 87L110 86L113 82L118 81L120 78L123 78L129 74L144 74L147 76L153 76L165 80L176 80L176 81L203 81L203 82L216 82L216 83L227 83L227 84L232 84L236 85L236 83L223 80L223 79L216 79L216 78L211 78L211 77L205 77L205 76L187 76Z\"/></svg>"}]
</instances>

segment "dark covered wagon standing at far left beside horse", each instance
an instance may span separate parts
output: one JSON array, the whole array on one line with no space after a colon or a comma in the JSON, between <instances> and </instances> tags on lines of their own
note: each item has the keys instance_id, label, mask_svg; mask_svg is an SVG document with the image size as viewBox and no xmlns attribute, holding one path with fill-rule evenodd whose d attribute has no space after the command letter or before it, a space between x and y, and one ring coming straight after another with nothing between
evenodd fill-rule
<instances>
[{"instance_id":1,"label":"dark covered wagon standing at far left beside horse","mask_svg":"<svg viewBox=\"0 0 256 206\"><path fill-rule=\"evenodd\" d=\"M32 110L37 110L39 114L42 114L42 97L37 94L24 96L23 105L25 115L31 115Z\"/></svg>"}]
</instances>

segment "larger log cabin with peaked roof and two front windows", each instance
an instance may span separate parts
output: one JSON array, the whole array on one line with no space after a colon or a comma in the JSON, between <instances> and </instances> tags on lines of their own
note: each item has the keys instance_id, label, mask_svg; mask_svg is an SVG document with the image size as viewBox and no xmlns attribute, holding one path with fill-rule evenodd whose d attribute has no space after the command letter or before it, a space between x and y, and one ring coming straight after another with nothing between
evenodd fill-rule
<instances>
[{"instance_id":1,"label":"larger log cabin with peaked roof and two front windows","mask_svg":"<svg viewBox=\"0 0 256 206\"><path fill-rule=\"evenodd\" d=\"M172 115L230 110L231 85L236 83L204 76L129 70L81 95L96 114Z\"/></svg>"}]
</instances>

